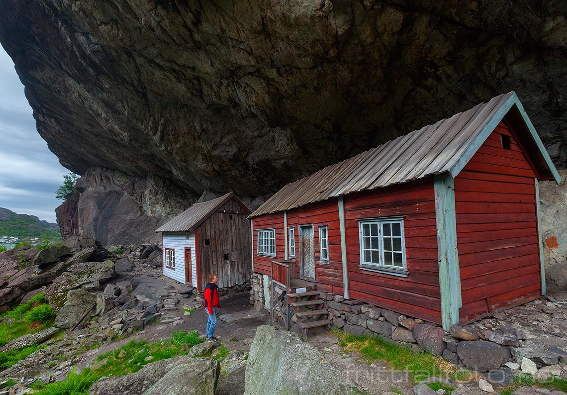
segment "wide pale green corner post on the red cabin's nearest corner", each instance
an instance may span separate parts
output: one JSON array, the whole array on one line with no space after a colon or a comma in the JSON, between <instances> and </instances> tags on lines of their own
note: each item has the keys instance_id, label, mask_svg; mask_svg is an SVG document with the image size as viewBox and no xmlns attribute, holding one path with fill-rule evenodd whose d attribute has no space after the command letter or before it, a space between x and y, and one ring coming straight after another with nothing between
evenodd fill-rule
<instances>
[{"instance_id":1,"label":"wide pale green corner post on the red cabin's nearest corner","mask_svg":"<svg viewBox=\"0 0 567 395\"><path fill-rule=\"evenodd\" d=\"M439 288L441 291L441 322L443 329L459 323L462 295L457 251L455 190L448 173L433 178L435 187L435 220L439 254Z\"/></svg>"}]
</instances>

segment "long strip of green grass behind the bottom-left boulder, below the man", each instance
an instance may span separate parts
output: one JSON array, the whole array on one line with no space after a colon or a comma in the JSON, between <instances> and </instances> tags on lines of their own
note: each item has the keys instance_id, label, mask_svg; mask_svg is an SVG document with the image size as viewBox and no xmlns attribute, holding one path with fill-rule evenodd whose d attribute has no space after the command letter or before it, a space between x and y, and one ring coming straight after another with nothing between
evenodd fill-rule
<instances>
[{"instance_id":1,"label":"long strip of green grass behind the bottom-left boulder, below the man","mask_svg":"<svg viewBox=\"0 0 567 395\"><path fill-rule=\"evenodd\" d=\"M96 361L103 364L96 369L86 368L78 374L71 371L65 381L58 383L35 384L34 389L39 390L35 394L86 395L100 377L124 376L137 372L146 364L187 354L189 348L201 342L197 331L176 331L172 333L171 339L159 342L131 341L118 350L99 355ZM146 360L149 356L153 356L153 359Z\"/></svg>"}]
</instances>

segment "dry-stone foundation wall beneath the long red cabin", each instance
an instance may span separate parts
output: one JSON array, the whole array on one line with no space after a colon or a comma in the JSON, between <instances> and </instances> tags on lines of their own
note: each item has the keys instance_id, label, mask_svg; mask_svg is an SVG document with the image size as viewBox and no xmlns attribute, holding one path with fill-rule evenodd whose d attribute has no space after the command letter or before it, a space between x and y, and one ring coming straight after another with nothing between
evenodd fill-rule
<instances>
[{"instance_id":1,"label":"dry-stone foundation wall beneath the long red cabin","mask_svg":"<svg viewBox=\"0 0 567 395\"><path fill-rule=\"evenodd\" d=\"M250 302L260 311L265 308L262 276L254 274L251 282ZM538 362L539 360L533 355L524 355L526 349L522 347L522 339L526 337L519 325L515 329L508 325L510 333L505 333L506 326L496 330L496 326L500 325L494 325L493 330L489 330L484 322L487 320L483 320L473 322L466 327L452 326L450 333L447 333L435 323L404 316L362 301L345 300L344 297L333 293L321 292L321 299L325 300L325 309L329 312L332 325L346 333L380 335L404 344L414 351L429 351L452 363L477 371L492 371L505 364L518 368L515 365L522 363L523 358L534 359L539 367L567 359L567 354L563 357L557 354L556 359ZM538 304L543 305L544 309L549 309L550 302L546 305L539 300L533 301L526 309L532 309ZM513 313L511 309L511 314ZM494 313L495 317L499 315L504 316L503 313ZM279 309L274 310L274 317L281 318ZM283 323L283 320L279 321ZM295 321L294 317L291 321L292 323ZM543 351L534 352L541 354Z\"/></svg>"}]
</instances>

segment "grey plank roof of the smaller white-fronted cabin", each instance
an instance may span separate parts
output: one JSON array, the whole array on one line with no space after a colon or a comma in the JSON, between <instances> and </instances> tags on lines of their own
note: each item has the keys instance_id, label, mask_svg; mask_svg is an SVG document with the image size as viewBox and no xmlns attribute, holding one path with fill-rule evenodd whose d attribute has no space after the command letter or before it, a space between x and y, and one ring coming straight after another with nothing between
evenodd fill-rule
<instances>
[{"instance_id":1,"label":"grey plank roof of the smaller white-fronted cabin","mask_svg":"<svg viewBox=\"0 0 567 395\"><path fill-rule=\"evenodd\" d=\"M204 201L202 203L194 203L187 210L182 212L180 215L176 216L172 220L166 222L155 232L189 232L195 230L199 225L201 225L207 218L213 215L219 207L225 204L230 199L234 199L240 207L242 207L242 212L249 215L250 210L234 193L226 194L217 199Z\"/></svg>"}]
</instances>

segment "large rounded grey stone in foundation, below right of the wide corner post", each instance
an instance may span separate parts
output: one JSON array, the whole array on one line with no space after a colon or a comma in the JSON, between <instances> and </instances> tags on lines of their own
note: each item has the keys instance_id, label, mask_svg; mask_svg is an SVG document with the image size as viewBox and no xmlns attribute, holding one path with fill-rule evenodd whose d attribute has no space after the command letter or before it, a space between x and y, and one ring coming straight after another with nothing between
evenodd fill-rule
<instances>
[{"instance_id":1,"label":"large rounded grey stone in foundation, below right of the wide corner post","mask_svg":"<svg viewBox=\"0 0 567 395\"><path fill-rule=\"evenodd\" d=\"M508 347L485 341L459 342L457 354L465 367L481 372L500 368L512 356Z\"/></svg>"}]
</instances>

